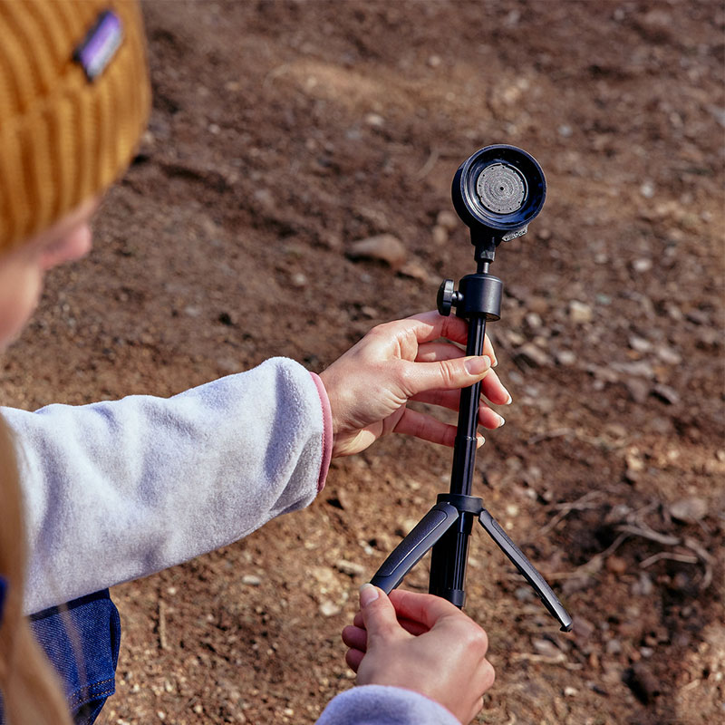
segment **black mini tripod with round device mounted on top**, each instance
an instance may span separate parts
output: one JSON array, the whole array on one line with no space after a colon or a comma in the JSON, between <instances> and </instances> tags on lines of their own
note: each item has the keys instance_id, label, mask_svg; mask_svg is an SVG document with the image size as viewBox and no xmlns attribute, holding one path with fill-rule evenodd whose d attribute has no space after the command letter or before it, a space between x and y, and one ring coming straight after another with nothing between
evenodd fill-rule
<instances>
[{"instance_id":1,"label":"black mini tripod with round device mounted on top","mask_svg":"<svg viewBox=\"0 0 725 725\"><path fill-rule=\"evenodd\" d=\"M438 292L438 310L449 315L451 308L469 323L467 355L483 352L488 320L500 319L503 284L488 274L496 247L502 241L526 234L528 223L544 206L546 180L541 167L526 151L513 146L487 146L460 166L453 179L453 206L470 227L476 251L475 275L466 275L454 289L447 279ZM438 594L458 607L466 600L464 590L469 536L474 519L513 562L528 584L556 617L563 632L572 619L534 565L507 536L498 522L471 496L476 463L476 430L480 382L460 392L458 434L453 448L450 491L420 520L411 533L392 551L372 577L372 584L390 593L430 548L430 594Z\"/></svg>"}]
</instances>

